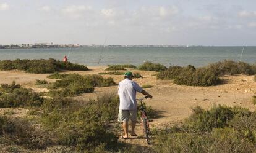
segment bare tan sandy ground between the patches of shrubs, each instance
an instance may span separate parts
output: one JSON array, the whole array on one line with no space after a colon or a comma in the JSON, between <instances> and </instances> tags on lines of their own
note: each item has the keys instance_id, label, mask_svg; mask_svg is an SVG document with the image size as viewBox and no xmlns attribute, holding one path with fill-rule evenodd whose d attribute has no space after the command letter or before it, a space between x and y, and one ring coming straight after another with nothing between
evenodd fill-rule
<instances>
[{"instance_id":1,"label":"bare tan sandy ground between the patches of shrubs","mask_svg":"<svg viewBox=\"0 0 256 153\"><path fill-rule=\"evenodd\" d=\"M98 74L104 71L106 67L89 67L91 71L67 71L64 73L79 73L79 74ZM188 87L183 85L175 85L172 80L157 80L156 72L138 71L142 74L143 79L134 79L139 85L153 85L152 88L147 88L147 92L153 95L152 100L145 100L148 105L152 106L155 111L159 112L159 117L154 119L150 124L154 127L161 128L165 125L182 122L182 119L191 114L191 108L194 106L202 106L202 108L211 108L214 104L225 104L227 106L242 106L254 111L256 106L252 104L252 96L256 94L256 82L254 76L224 76L224 84L213 87ZM55 79L47 79L48 74L28 74L22 71L0 71L0 84L10 84L13 80L24 87L32 88L36 91L47 91L45 88L38 87L35 84L35 79L47 80L54 82ZM115 82L123 79L123 76L113 77ZM95 88L95 92L86 93L76 97L77 100L89 100L96 98L98 95L114 92L117 93L117 86ZM143 95L138 93L139 98ZM16 116L20 116L22 111L15 111ZM6 109L1 109L0 114L3 114ZM26 111L26 110L25 110ZM23 113L24 114L24 113ZM137 128L137 133L143 135ZM134 144L140 141L139 138L133 141ZM142 143L144 145L144 143ZM146 145L146 144L145 144Z\"/></svg>"}]
</instances>

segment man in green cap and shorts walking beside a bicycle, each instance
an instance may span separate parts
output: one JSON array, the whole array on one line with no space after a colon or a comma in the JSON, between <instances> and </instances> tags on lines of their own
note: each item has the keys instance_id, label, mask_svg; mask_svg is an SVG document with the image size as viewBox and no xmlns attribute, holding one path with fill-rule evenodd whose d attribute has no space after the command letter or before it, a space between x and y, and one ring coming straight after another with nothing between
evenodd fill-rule
<instances>
[{"instance_id":1,"label":"man in green cap and shorts walking beside a bicycle","mask_svg":"<svg viewBox=\"0 0 256 153\"><path fill-rule=\"evenodd\" d=\"M137 121L137 101L136 92L147 95L152 99L152 96L143 90L136 82L132 81L132 72L124 74L124 80L119 82L118 95L120 98L118 121L122 122L124 135L122 138L128 139L128 122L132 121L131 136L137 136L134 129Z\"/></svg>"}]
</instances>

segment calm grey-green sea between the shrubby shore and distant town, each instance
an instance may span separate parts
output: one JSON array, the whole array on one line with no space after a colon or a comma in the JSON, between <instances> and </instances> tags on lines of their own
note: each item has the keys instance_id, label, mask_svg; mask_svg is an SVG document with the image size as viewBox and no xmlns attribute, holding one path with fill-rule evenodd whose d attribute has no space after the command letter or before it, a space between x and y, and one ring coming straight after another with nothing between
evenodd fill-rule
<instances>
[{"instance_id":1,"label":"calm grey-green sea between the shrubby shore and distant town","mask_svg":"<svg viewBox=\"0 0 256 153\"><path fill-rule=\"evenodd\" d=\"M224 59L239 61L242 47L127 47L75 49L0 49L0 60L16 58L62 60L69 55L69 61L88 66L130 63L140 65L143 61L163 65L205 66ZM102 53L102 55L101 55ZM100 64L98 64L101 55ZM256 47L245 47L242 61L255 63Z\"/></svg>"}]
</instances>

